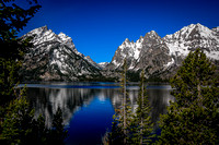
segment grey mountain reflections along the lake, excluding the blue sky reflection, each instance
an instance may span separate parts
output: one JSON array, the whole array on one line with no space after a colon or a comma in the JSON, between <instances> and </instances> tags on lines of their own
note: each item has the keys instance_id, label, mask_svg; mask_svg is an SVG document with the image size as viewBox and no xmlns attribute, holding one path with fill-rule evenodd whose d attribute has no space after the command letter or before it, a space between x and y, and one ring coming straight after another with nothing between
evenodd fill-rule
<instances>
[{"instance_id":1,"label":"grey mountain reflections along the lake, excluding the blue sky reflection","mask_svg":"<svg viewBox=\"0 0 219 145\"><path fill-rule=\"evenodd\" d=\"M132 111L137 108L138 89L128 89ZM148 89L149 101L152 105L152 121L157 122L160 113L165 113L166 106L173 97L169 89ZM84 105L89 105L94 97L100 100L110 98L114 109L122 106L122 96L118 88L30 88L27 90L31 105L35 108L35 113L42 113L47 124L50 126L53 114L58 107L64 113L64 123L68 124L73 113Z\"/></svg>"}]
</instances>

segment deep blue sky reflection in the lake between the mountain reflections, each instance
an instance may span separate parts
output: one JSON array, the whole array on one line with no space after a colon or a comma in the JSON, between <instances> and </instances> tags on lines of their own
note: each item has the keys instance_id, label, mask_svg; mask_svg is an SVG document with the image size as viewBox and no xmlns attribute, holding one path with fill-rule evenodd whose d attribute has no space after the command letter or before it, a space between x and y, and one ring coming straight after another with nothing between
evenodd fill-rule
<instances>
[{"instance_id":1,"label":"deep blue sky reflection in the lake between the mountain reflections","mask_svg":"<svg viewBox=\"0 0 219 145\"><path fill-rule=\"evenodd\" d=\"M83 106L71 119L66 144L96 145L102 136L111 130L114 108L110 98L95 97L90 105Z\"/></svg>"}]
</instances>

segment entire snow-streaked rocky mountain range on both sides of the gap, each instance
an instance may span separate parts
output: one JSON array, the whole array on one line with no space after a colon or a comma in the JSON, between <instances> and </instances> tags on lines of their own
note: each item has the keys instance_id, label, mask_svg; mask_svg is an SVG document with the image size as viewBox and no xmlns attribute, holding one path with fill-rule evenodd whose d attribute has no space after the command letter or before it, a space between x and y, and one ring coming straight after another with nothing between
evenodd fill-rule
<instances>
[{"instance_id":1,"label":"entire snow-streaked rocky mountain range on both sides of the gap","mask_svg":"<svg viewBox=\"0 0 219 145\"><path fill-rule=\"evenodd\" d=\"M33 48L26 53L21 70L25 81L113 80L119 76L117 71L122 70L125 58L131 77L145 70L147 77L169 78L188 52L197 48L219 63L219 27L210 29L200 24L191 24L163 38L154 31L140 36L136 43L126 38L112 61L100 64L80 53L66 34L57 35L47 26L23 37L27 36L33 37Z\"/></svg>"}]
</instances>

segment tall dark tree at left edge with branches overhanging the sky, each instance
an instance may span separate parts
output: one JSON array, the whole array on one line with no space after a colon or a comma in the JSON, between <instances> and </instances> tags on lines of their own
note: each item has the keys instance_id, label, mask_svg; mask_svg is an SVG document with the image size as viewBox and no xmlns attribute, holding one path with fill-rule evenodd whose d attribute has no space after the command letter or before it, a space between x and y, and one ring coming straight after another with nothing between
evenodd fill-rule
<instances>
[{"instance_id":1,"label":"tall dark tree at left edge with branches overhanging the sky","mask_svg":"<svg viewBox=\"0 0 219 145\"><path fill-rule=\"evenodd\" d=\"M37 0L23 0L28 8L21 8L15 0L0 0L0 105L14 98L22 57L27 51L31 38L19 39L18 33L38 11Z\"/></svg>"}]
</instances>

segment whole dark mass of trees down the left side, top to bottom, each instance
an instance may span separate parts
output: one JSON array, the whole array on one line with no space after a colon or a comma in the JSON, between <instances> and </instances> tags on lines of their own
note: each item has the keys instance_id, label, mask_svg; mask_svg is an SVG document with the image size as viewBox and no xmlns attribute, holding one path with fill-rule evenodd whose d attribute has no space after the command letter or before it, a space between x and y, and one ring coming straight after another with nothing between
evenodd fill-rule
<instances>
[{"instance_id":1,"label":"whole dark mass of trees down the left side, top to bottom","mask_svg":"<svg viewBox=\"0 0 219 145\"><path fill-rule=\"evenodd\" d=\"M21 8L15 0L0 0L0 144L64 144L67 131L61 109L56 111L48 129L42 116L34 117L25 97L26 88L16 88L23 57L32 46L31 37L20 39L18 33L41 9L37 0L23 2L30 7Z\"/></svg>"}]
</instances>

